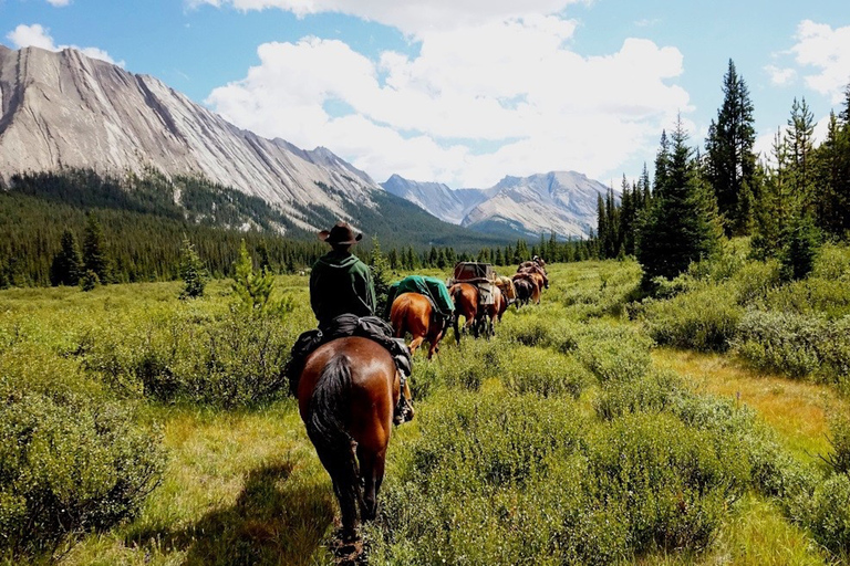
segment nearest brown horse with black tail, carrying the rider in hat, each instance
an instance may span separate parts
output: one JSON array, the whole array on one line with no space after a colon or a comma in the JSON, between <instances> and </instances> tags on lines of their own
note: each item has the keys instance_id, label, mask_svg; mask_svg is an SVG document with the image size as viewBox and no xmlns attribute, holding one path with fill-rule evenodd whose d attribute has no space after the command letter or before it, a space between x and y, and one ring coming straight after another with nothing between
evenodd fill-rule
<instances>
[{"instance_id":1,"label":"nearest brown horse with black tail, carrying the rider in hat","mask_svg":"<svg viewBox=\"0 0 850 566\"><path fill-rule=\"evenodd\" d=\"M390 353L359 336L323 344L301 371L298 406L333 482L343 539L356 538L357 509L363 521L375 517L393 411L400 395L410 397L400 377Z\"/></svg>"}]
</instances>

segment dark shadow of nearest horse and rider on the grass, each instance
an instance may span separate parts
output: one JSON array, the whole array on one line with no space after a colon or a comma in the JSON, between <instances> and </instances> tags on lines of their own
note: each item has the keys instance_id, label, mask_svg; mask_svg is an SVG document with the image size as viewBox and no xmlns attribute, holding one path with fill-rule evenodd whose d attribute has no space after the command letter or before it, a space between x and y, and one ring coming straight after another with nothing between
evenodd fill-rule
<instances>
[{"instance_id":1,"label":"dark shadow of nearest horse and rider on the grass","mask_svg":"<svg viewBox=\"0 0 850 566\"><path fill-rule=\"evenodd\" d=\"M132 542L186 551L184 565L313 564L333 522L333 494L290 481L292 468L287 462L253 470L235 505L180 531L136 533Z\"/></svg>"}]
</instances>

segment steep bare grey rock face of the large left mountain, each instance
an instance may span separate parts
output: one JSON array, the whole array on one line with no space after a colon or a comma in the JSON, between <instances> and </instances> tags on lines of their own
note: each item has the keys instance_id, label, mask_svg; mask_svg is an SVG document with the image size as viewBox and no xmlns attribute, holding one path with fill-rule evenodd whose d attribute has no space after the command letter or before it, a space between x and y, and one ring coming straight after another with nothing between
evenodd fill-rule
<instances>
[{"instance_id":1,"label":"steep bare grey rock face of the large left mountain","mask_svg":"<svg viewBox=\"0 0 850 566\"><path fill-rule=\"evenodd\" d=\"M0 179L65 167L199 175L280 207L297 224L320 205L374 206L370 177L325 148L239 129L156 78L79 51L0 45ZM324 228L324 227L322 227Z\"/></svg>"}]
</instances>

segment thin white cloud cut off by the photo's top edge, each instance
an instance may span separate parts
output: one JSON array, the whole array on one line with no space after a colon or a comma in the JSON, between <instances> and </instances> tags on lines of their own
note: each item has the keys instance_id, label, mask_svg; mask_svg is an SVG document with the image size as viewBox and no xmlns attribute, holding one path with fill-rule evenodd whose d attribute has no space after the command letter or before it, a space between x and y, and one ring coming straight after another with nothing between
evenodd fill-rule
<instances>
[{"instance_id":1,"label":"thin white cloud cut off by the photo's top edge","mask_svg":"<svg viewBox=\"0 0 850 566\"><path fill-rule=\"evenodd\" d=\"M591 0L185 0L191 8L210 4L237 10L280 9L304 17L336 12L392 25L422 36L438 30L469 28L529 13L557 14L567 6Z\"/></svg>"}]
</instances>

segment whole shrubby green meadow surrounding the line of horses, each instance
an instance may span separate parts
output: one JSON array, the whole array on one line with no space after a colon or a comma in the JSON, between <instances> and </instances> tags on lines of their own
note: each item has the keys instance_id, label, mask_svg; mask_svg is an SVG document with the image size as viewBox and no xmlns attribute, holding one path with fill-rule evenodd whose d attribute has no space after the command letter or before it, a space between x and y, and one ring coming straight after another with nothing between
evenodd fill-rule
<instances>
[{"instance_id":1,"label":"whole shrubby green meadow surrounding the line of horses","mask_svg":"<svg viewBox=\"0 0 850 566\"><path fill-rule=\"evenodd\" d=\"M631 260L549 272L417 354L363 562L850 564L850 250L785 283L736 241L652 298ZM334 563L281 376L307 277L282 315L229 289L0 292L0 563Z\"/></svg>"}]
</instances>

